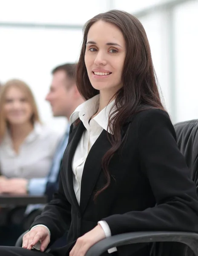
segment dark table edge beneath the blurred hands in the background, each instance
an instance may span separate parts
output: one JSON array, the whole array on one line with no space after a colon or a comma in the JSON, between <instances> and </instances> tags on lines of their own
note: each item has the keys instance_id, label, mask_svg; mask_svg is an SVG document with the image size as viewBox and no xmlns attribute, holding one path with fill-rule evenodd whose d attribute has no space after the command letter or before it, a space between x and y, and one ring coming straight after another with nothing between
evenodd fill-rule
<instances>
[{"instance_id":1,"label":"dark table edge beneath the blurred hands in the background","mask_svg":"<svg viewBox=\"0 0 198 256\"><path fill-rule=\"evenodd\" d=\"M34 196L34 195L11 195L3 194L0 195L0 206L26 206L28 204L46 204L47 198L43 196Z\"/></svg>"}]
</instances>

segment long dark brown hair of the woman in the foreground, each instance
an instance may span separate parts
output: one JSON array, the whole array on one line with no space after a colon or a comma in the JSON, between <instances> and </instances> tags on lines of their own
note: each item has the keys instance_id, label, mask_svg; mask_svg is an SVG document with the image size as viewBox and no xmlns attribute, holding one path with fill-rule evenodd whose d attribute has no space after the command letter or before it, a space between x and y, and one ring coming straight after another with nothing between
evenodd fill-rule
<instances>
[{"instance_id":1,"label":"long dark brown hair of the woman in the foreground","mask_svg":"<svg viewBox=\"0 0 198 256\"><path fill-rule=\"evenodd\" d=\"M126 58L121 77L123 87L115 94L114 106L117 110L109 115L108 127L113 131L113 136L108 138L112 147L102 159L102 168L107 182L96 192L95 198L110 184L108 165L112 156L121 147L123 142L121 129L126 120L135 113L149 108L164 110L146 32L136 17L119 10L100 13L88 20L84 26L83 43L77 65L77 87L82 96L87 100L99 93L99 90L92 87L89 81L84 61L89 29L99 20L112 23L121 30L126 42Z\"/></svg>"}]
</instances>

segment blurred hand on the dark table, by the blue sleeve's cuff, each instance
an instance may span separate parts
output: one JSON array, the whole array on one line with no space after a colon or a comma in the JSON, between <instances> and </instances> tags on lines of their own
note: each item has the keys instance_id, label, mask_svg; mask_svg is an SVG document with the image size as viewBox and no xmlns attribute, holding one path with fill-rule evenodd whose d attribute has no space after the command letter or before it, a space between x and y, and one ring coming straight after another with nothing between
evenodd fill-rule
<instances>
[{"instance_id":1,"label":"blurred hand on the dark table, by the blue sleeve's cuff","mask_svg":"<svg viewBox=\"0 0 198 256\"><path fill-rule=\"evenodd\" d=\"M27 194L28 180L23 178L12 178L0 180L0 194Z\"/></svg>"}]
</instances>

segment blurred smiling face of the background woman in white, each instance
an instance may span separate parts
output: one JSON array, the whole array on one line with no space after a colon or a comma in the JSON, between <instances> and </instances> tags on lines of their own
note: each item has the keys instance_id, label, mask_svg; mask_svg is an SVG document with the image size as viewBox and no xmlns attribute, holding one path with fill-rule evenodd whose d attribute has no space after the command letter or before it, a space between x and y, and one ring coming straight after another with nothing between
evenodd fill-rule
<instances>
[{"instance_id":1,"label":"blurred smiling face of the background woman in white","mask_svg":"<svg viewBox=\"0 0 198 256\"><path fill-rule=\"evenodd\" d=\"M21 125L30 122L32 107L25 93L16 87L11 87L6 93L4 114L10 125Z\"/></svg>"}]
</instances>

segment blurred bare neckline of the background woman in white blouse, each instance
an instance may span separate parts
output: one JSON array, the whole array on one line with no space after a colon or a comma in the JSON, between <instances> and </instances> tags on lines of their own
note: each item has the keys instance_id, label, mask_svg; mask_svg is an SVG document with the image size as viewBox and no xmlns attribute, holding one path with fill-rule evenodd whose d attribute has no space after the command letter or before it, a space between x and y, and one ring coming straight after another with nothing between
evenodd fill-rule
<instances>
[{"instance_id":1,"label":"blurred bare neckline of the background woman in white blouse","mask_svg":"<svg viewBox=\"0 0 198 256\"><path fill-rule=\"evenodd\" d=\"M13 141L23 141L33 130L34 126L31 122L23 125L10 125L10 134Z\"/></svg>"}]
</instances>

